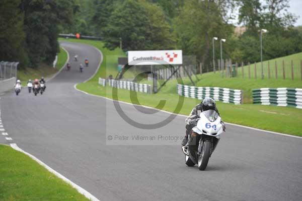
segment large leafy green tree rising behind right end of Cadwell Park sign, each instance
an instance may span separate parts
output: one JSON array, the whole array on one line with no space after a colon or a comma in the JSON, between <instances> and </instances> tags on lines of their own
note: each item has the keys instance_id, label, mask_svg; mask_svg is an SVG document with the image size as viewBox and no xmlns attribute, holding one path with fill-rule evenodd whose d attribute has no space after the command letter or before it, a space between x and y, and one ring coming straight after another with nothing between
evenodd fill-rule
<instances>
[{"instance_id":1,"label":"large leafy green tree rising behind right end of Cadwell Park sign","mask_svg":"<svg viewBox=\"0 0 302 201\"><path fill-rule=\"evenodd\" d=\"M203 63L212 60L209 57L212 37L229 38L233 32L214 1L186 1L174 22L178 48L186 55L197 55Z\"/></svg>"}]
</instances>

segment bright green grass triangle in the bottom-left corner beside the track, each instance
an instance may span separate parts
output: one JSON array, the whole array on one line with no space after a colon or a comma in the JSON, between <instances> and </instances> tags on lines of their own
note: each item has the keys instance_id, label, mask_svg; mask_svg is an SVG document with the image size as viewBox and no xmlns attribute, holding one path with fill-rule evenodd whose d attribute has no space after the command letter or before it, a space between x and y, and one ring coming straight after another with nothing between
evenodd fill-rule
<instances>
[{"instance_id":1,"label":"bright green grass triangle in the bottom-left corner beside the track","mask_svg":"<svg viewBox=\"0 0 302 201\"><path fill-rule=\"evenodd\" d=\"M0 145L0 200L89 200L29 156Z\"/></svg>"}]
</instances>

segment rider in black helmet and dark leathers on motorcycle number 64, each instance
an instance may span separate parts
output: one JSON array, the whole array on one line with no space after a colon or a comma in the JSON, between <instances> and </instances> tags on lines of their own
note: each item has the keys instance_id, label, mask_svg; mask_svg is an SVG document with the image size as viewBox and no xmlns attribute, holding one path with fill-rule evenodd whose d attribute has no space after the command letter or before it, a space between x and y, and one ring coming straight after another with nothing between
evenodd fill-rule
<instances>
[{"instance_id":1,"label":"rider in black helmet and dark leathers on motorcycle number 64","mask_svg":"<svg viewBox=\"0 0 302 201\"><path fill-rule=\"evenodd\" d=\"M204 111L210 110L210 109L215 110L217 112L217 114L220 116L220 114L218 112L218 109L216 107L216 102L212 98L208 98L208 97L204 98L203 101L200 104L196 105L192 109L191 113L189 114L189 116L185 120L186 124L187 124L186 125L186 135L185 135L184 139L181 142L182 146L185 146L187 144L189 133L192 130L192 128L194 126L196 126L195 115L197 117L199 117L201 112L204 112ZM221 121L221 124L223 126L223 131L225 131L224 122Z\"/></svg>"}]
</instances>

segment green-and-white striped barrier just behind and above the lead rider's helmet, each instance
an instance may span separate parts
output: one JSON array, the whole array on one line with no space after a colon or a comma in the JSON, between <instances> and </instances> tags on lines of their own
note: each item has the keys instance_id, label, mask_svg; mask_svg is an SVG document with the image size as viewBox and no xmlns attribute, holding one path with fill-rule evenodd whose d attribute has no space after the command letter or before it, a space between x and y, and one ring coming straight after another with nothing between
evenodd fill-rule
<instances>
[{"instance_id":1,"label":"green-and-white striped barrier just behind and above the lead rider's helmet","mask_svg":"<svg viewBox=\"0 0 302 201\"><path fill-rule=\"evenodd\" d=\"M177 85L177 93L181 96L197 98L199 100L210 97L223 103L243 103L243 91L238 89Z\"/></svg>"}]
</instances>

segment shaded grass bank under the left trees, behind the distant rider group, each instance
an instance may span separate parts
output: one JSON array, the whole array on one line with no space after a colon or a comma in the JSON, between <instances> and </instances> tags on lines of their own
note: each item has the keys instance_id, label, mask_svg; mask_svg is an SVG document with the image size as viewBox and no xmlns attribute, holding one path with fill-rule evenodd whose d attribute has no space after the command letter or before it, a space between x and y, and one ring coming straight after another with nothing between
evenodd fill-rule
<instances>
[{"instance_id":1,"label":"shaded grass bank under the left trees, behind the distant rider group","mask_svg":"<svg viewBox=\"0 0 302 201\"><path fill-rule=\"evenodd\" d=\"M25 68L22 70L18 70L17 77L21 80L22 85L26 86L27 81L29 79L33 80L35 78L40 79L43 77L50 77L51 75L58 72L61 68L63 68L63 65L65 61L67 60L67 52L60 47L60 52L58 53L58 61L56 64L56 68L53 68L50 65L41 64L39 68L32 69L32 68Z\"/></svg>"}]
</instances>

